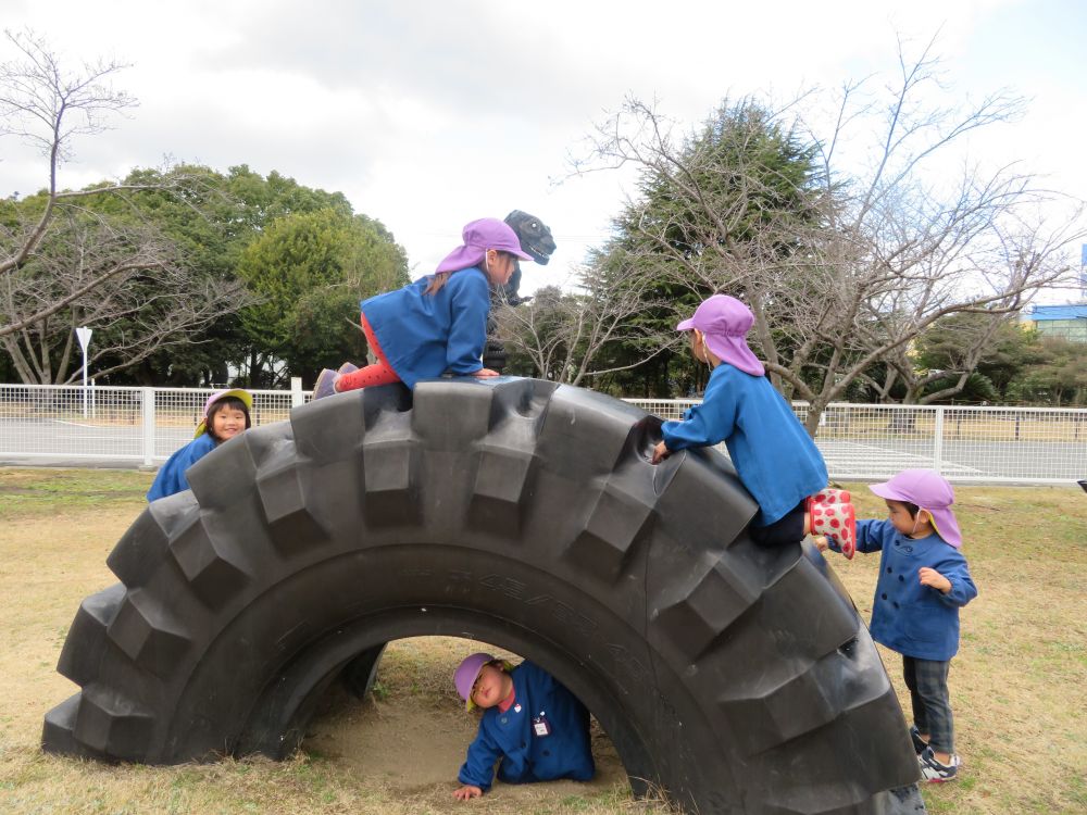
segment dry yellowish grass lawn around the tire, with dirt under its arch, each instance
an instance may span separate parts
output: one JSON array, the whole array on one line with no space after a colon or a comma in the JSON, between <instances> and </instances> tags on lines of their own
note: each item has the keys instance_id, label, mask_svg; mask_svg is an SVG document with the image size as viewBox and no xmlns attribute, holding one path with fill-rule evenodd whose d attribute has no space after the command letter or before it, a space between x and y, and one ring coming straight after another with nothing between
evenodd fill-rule
<instances>
[{"instance_id":1,"label":"dry yellowish grass lawn around the tire, with dirt under its arch","mask_svg":"<svg viewBox=\"0 0 1087 815\"><path fill-rule=\"evenodd\" d=\"M0 468L0 812L2 813L664 813L633 802L607 736L590 785L499 785L452 800L475 730L449 682L471 648L400 640L373 698L330 694L293 758L176 767L107 766L38 749L45 713L77 688L55 673L79 602L115 578L105 557L145 506L151 476ZM882 501L848 485L861 514ZM1078 488L957 490L963 552L979 597L951 666L957 783L923 790L942 815L1087 811L1087 496ZM878 559L829 555L862 616ZM909 707L901 660L883 652Z\"/></svg>"}]
</instances>

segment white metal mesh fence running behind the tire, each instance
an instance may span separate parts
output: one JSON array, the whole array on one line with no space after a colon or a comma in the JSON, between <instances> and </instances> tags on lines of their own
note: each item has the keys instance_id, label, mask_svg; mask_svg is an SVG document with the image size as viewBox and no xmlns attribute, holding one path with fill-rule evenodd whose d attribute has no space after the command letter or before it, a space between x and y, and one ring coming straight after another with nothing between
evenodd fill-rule
<instances>
[{"instance_id":1,"label":"white metal mesh fence running behind the tire","mask_svg":"<svg viewBox=\"0 0 1087 815\"><path fill-rule=\"evenodd\" d=\"M211 390L0 385L0 463L153 466L192 438ZM310 393L253 391L254 425ZM697 400L627 400L677 419ZM795 403L801 421L808 406ZM837 479L932 467L950 480L1070 484L1087 478L1087 410L832 404L815 438Z\"/></svg>"}]
</instances>

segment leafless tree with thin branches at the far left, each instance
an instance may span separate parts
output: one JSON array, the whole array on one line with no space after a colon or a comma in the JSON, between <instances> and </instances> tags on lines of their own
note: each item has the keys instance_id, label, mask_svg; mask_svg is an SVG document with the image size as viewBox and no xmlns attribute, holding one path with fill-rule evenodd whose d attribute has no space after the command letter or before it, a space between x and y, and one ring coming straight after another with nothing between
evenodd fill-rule
<instances>
[{"instance_id":1,"label":"leafless tree with thin branches at the far left","mask_svg":"<svg viewBox=\"0 0 1087 815\"><path fill-rule=\"evenodd\" d=\"M43 190L5 202L0 220L0 348L25 383L75 376L74 328L93 325L98 375L191 341L212 319L251 301L232 281L209 281L132 197L180 190L184 174L155 184L59 181L75 142L99 135L137 102L112 79L126 65L98 61L68 71L30 32L5 32L17 52L0 64L0 136L20 138L45 159ZM121 206L107 206L107 197ZM121 210L118 212L117 210Z\"/></svg>"}]
</instances>

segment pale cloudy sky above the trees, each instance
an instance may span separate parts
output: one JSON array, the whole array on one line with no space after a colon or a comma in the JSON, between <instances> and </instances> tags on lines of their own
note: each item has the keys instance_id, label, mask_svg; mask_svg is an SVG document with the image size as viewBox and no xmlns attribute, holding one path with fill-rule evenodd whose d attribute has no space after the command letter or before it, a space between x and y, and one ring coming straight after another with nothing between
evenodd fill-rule
<instances>
[{"instance_id":1,"label":"pale cloudy sky above the trees","mask_svg":"<svg viewBox=\"0 0 1087 815\"><path fill-rule=\"evenodd\" d=\"M935 36L963 103L1026 99L1019 121L970 140L972 158L1087 198L1078 0L0 0L0 26L32 29L73 67L130 63L115 86L139 106L74 143L62 186L166 162L275 170L382 221L413 277L468 221L518 209L559 247L525 267L523 293L561 285L636 195L629 171L577 176L570 163L624 99L692 128L726 97L894 82L899 39L916 54ZM0 61L15 57L0 40ZM46 181L41 155L0 138L0 196Z\"/></svg>"}]
</instances>

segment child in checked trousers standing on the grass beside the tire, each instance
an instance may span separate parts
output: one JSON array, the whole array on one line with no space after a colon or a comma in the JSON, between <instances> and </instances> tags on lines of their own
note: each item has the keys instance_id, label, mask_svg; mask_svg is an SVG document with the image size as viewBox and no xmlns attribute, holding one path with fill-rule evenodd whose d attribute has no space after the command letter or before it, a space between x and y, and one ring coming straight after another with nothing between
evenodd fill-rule
<instances>
[{"instance_id":1,"label":"child in checked trousers standing on the grass beside the tire","mask_svg":"<svg viewBox=\"0 0 1087 815\"><path fill-rule=\"evenodd\" d=\"M880 552L872 639L902 654L913 706L910 736L926 781L959 773L948 670L959 651L959 609L977 597L951 485L932 469L903 469L870 489L887 502L886 521L857 522L857 551ZM837 542L819 541L838 551Z\"/></svg>"}]
</instances>

